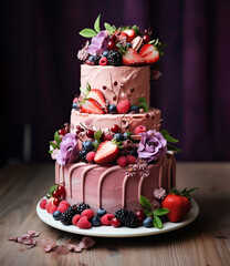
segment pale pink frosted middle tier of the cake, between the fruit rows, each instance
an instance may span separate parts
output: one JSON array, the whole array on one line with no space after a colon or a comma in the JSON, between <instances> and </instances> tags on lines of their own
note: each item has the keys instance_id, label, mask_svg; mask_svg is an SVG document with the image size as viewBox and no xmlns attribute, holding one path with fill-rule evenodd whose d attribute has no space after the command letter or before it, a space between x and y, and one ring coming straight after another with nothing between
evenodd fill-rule
<instances>
[{"instance_id":1,"label":"pale pink frosted middle tier of the cake, between the fruit rows","mask_svg":"<svg viewBox=\"0 0 230 266\"><path fill-rule=\"evenodd\" d=\"M106 132L114 124L117 124L122 133L129 131L132 134L135 134L135 129L138 125L159 131L160 121L160 110L158 109L150 109L146 113L137 114L87 114L73 109L71 113L71 133L76 132L77 125L87 127L91 124L94 130Z\"/></svg>"}]
</instances>

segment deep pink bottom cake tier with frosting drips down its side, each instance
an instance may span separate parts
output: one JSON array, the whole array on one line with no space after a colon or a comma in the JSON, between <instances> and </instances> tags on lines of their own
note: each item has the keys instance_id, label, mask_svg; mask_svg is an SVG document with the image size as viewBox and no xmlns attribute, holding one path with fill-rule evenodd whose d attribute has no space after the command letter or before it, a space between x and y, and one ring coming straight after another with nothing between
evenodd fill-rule
<instances>
[{"instance_id":1,"label":"deep pink bottom cake tier with frosting drips down its side","mask_svg":"<svg viewBox=\"0 0 230 266\"><path fill-rule=\"evenodd\" d=\"M135 211L140 207L140 195L151 202L155 188L169 191L176 185L176 161L174 154L167 153L164 158L147 166L142 161L127 167L55 164L55 184L64 185L65 200L70 204L85 202L94 212L101 207L108 213L121 207Z\"/></svg>"}]
</instances>

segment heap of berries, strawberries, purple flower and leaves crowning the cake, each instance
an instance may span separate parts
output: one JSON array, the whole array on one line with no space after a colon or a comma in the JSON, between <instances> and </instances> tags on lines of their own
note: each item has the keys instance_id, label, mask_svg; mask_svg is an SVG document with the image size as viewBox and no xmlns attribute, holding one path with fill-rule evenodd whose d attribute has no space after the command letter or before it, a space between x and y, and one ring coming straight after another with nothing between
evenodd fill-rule
<instances>
[{"instance_id":1,"label":"heap of berries, strawberries, purple flower and leaves crowning the cake","mask_svg":"<svg viewBox=\"0 0 230 266\"><path fill-rule=\"evenodd\" d=\"M151 30L140 32L137 25L115 27L104 23L100 25L101 14L94 29L84 29L80 35L87 40L77 58L88 65L147 65L156 63L164 55L164 48L159 39L151 38Z\"/></svg>"}]
</instances>

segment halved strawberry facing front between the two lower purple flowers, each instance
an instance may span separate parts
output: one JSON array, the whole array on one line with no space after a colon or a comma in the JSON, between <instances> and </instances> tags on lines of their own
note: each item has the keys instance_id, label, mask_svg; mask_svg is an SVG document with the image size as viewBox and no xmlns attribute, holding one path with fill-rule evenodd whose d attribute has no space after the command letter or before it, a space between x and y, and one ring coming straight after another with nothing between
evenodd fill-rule
<instances>
[{"instance_id":1,"label":"halved strawberry facing front between the two lower purple flowers","mask_svg":"<svg viewBox=\"0 0 230 266\"><path fill-rule=\"evenodd\" d=\"M111 141L102 142L96 151L94 162L97 164L107 164L115 162L119 150L116 144Z\"/></svg>"}]
</instances>

